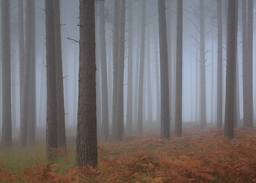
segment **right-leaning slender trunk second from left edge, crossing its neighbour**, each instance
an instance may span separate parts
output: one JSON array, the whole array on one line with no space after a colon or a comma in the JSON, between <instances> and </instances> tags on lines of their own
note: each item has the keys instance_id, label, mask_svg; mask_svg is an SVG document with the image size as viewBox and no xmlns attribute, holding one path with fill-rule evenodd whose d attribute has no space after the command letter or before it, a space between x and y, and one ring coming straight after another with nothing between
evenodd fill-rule
<instances>
[{"instance_id":1,"label":"right-leaning slender trunk second from left edge, crossing its neighbour","mask_svg":"<svg viewBox=\"0 0 256 183\"><path fill-rule=\"evenodd\" d=\"M19 146L26 147L28 132L28 106L31 59L31 1L26 0L25 63L23 73L22 109L20 114Z\"/></svg>"}]
</instances>

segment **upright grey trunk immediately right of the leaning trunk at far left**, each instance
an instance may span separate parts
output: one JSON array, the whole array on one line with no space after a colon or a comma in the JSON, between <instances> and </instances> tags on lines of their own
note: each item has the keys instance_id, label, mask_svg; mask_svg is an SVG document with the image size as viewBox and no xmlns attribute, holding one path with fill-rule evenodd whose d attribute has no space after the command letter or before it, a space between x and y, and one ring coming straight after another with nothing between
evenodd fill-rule
<instances>
[{"instance_id":1,"label":"upright grey trunk immediately right of the leaning trunk at far left","mask_svg":"<svg viewBox=\"0 0 256 183\"><path fill-rule=\"evenodd\" d=\"M31 57L29 77L28 144L35 144L36 131L36 73L35 73L35 2L31 1Z\"/></svg>"}]
</instances>

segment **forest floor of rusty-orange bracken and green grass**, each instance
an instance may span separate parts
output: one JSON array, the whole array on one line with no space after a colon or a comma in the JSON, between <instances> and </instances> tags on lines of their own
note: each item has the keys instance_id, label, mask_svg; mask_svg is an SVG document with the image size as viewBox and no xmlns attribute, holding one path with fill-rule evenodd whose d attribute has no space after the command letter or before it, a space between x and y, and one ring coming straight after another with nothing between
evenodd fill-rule
<instances>
[{"instance_id":1,"label":"forest floor of rusty-orange bracken and green grass","mask_svg":"<svg viewBox=\"0 0 256 183\"><path fill-rule=\"evenodd\" d=\"M98 139L98 167L75 167L75 136L58 164L47 164L45 140L34 147L0 151L0 182L256 182L256 129L239 128L234 139L222 130L187 128L183 137L159 133Z\"/></svg>"}]
</instances>

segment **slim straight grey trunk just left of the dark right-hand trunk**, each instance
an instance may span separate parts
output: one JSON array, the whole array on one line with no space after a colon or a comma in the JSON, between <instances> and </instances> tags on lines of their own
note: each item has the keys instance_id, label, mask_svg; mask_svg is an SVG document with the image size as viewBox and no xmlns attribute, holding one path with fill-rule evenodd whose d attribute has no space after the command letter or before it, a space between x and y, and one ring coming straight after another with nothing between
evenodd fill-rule
<instances>
[{"instance_id":1,"label":"slim straight grey trunk just left of the dark right-hand trunk","mask_svg":"<svg viewBox=\"0 0 256 183\"><path fill-rule=\"evenodd\" d=\"M222 8L221 0L217 1L218 10L218 86L217 86L217 129L222 128Z\"/></svg>"}]
</instances>

